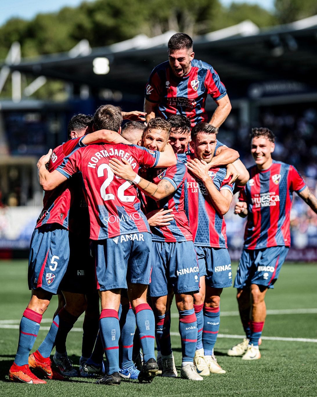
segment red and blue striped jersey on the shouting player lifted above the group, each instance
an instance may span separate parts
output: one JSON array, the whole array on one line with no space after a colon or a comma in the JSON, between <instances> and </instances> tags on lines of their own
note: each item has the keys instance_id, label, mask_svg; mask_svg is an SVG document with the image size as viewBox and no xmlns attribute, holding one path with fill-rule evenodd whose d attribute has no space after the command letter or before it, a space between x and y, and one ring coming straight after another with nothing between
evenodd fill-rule
<instances>
[{"instance_id":1,"label":"red and blue striped jersey on the shouting player lifted above the group","mask_svg":"<svg viewBox=\"0 0 317 397\"><path fill-rule=\"evenodd\" d=\"M193 59L191 70L184 77L176 77L168 61L155 67L145 87L145 98L158 104L156 116L167 119L171 114L182 114L193 127L208 122L206 98L214 100L227 94L214 68L206 62Z\"/></svg>"}]
</instances>

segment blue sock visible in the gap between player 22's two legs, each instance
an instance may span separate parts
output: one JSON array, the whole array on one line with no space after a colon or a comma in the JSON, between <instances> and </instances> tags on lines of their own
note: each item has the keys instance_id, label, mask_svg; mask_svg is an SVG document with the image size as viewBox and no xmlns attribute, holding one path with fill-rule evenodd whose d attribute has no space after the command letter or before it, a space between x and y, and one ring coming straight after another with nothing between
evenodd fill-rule
<instances>
[{"instance_id":1,"label":"blue sock visible in the gap between player 22's two legs","mask_svg":"<svg viewBox=\"0 0 317 397\"><path fill-rule=\"evenodd\" d=\"M121 359L120 368L129 368L133 365L132 361L132 350L133 350L133 338L136 330L136 315L132 310L131 305L125 304L122 306L122 312L120 316L120 347Z\"/></svg>"}]
</instances>

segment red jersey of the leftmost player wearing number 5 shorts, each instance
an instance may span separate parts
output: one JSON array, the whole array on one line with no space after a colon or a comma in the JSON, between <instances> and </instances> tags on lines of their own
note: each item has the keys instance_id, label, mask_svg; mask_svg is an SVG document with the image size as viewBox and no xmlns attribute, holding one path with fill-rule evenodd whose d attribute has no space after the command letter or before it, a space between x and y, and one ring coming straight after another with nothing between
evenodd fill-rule
<instances>
[{"instance_id":1,"label":"red jersey of the leftmost player wearing number 5 shorts","mask_svg":"<svg viewBox=\"0 0 317 397\"><path fill-rule=\"evenodd\" d=\"M69 141L57 146L52 152L50 162L48 163L48 171L52 172L60 166L66 156L68 156L76 148L85 146L81 143L84 137L70 139ZM69 208L73 195L69 187L68 181L57 186L52 191L46 191L43 198L43 210L38 217L35 227L44 224L58 223L68 229Z\"/></svg>"}]
</instances>

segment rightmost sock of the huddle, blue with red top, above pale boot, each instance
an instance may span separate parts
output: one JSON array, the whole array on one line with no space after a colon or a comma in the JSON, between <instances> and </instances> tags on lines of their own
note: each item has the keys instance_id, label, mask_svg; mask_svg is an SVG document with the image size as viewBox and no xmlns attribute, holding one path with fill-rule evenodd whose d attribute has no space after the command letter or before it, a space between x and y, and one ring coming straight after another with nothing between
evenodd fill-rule
<instances>
[{"instance_id":1,"label":"rightmost sock of the huddle, blue with red top, above pale boot","mask_svg":"<svg viewBox=\"0 0 317 397\"><path fill-rule=\"evenodd\" d=\"M220 326L220 307L204 307L204 329L202 345L205 356L212 356Z\"/></svg>"}]
</instances>

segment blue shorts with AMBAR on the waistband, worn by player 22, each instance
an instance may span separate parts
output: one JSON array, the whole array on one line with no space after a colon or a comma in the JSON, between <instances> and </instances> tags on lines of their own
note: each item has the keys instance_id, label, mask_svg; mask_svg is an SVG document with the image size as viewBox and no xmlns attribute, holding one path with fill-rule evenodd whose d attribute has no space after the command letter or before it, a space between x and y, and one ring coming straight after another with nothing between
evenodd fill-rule
<instances>
[{"instance_id":1,"label":"blue shorts with AMBAR on the waistband, worn by player 22","mask_svg":"<svg viewBox=\"0 0 317 397\"><path fill-rule=\"evenodd\" d=\"M122 234L94 241L97 288L109 291L132 284L149 284L151 233Z\"/></svg>"}]
</instances>

